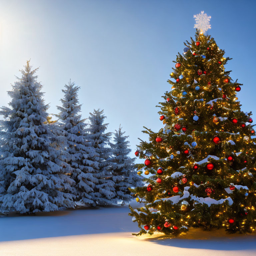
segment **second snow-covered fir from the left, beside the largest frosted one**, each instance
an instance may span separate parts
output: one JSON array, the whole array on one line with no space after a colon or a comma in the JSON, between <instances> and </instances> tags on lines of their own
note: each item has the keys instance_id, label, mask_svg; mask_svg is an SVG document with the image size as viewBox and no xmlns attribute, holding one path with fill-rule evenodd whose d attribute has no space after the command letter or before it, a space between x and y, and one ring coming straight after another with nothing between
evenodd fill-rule
<instances>
[{"instance_id":1,"label":"second snow-covered fir from the left, beside the largest frosted one","mask_svg":"<svg viewBox=\"0 0 256 256\"><path fill-rule=\"evenodd\" d=\"M95 200L90 195L98 179L93 175L98 168L99 154L95 152L91 143L86 140L85 123L81 119L81 105L78 101L78 90L69 81L65 85L62 106L57 106L60 113L56 115L60 121L63 140L62 149L68 153L67 164L71 166L70 177L76 183L76 201L79 205L94 205Z\"/></svg>"}]
</instances>

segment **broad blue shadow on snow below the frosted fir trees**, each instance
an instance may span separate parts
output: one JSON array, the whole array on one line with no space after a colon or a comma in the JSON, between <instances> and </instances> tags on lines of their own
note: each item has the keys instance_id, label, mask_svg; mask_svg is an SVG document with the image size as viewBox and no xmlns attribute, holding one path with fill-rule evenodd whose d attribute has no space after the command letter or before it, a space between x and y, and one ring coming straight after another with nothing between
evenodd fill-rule
<instances>
[{"instance_id":1,"label":"broad blue shadow on snow below the frosted fir trees","mask_svg":"<svg viewBox=\"0 0 256 256\"><path fill-rule=\"evenodd\" d=\"M85 208L1 217L0 242L45 237L138 232L128 206Z\"/></svg>"}]
</instances>

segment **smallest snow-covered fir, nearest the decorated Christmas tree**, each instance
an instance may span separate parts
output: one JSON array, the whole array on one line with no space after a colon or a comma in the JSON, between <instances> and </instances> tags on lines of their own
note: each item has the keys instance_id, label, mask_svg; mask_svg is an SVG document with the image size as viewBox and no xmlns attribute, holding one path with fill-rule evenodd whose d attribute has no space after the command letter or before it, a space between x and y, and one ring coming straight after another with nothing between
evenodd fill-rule
<instances>
[{"instance_id":1,"label":"smallest snow-covered fir, nearest the decorated Christmas tree","mask_svg":"<svg viewBox=\"0 0 256 256\"><path fill-rule=\"evenodd\" d=\"M113 141L110 143L112 156L110 157L110 170L112 173L112 180L115 182L116 196L114 200L128 203L131 200L131 192L129 187L138 187L142 185L142 179L134 171L134 160L130 158L129 154L129 136L124 136L120 125L118 130L115 130Z\"/></svg>"}]
</instances>

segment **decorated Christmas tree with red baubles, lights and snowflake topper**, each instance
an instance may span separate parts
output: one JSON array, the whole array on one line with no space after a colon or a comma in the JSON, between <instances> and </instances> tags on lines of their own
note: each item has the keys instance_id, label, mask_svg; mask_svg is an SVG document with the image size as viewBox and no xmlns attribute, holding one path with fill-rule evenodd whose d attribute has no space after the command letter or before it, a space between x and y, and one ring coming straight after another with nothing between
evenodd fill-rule
<instances>
[{"instance_id":1,"label":"decorated Christmas tree with red baubles, lights and snowflake topper","mask_svg":"<svg viewBox=\"0 0 256 256\"><path fill-rule=\"evenodd\" d=\"M225 57L203 12L195 16L195 38L186 41L171 72L171 91L161 102L159 132L146 129L135 155L149 172L133 192L144 206L131 209L138 234L178 235L190 227L256 229L256 140L251 112L241 111L241 85L230 77Z\"/></svg>"}]
</instances>

